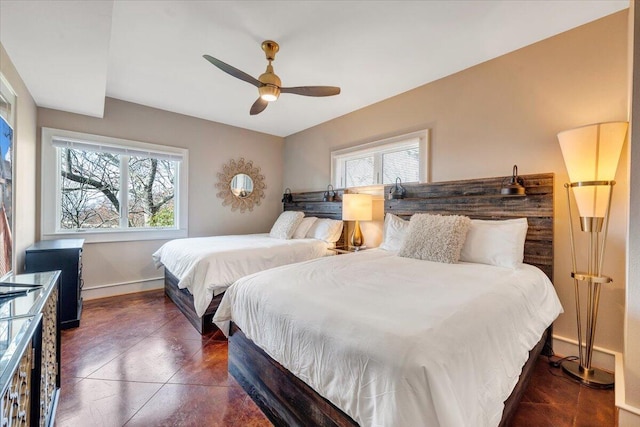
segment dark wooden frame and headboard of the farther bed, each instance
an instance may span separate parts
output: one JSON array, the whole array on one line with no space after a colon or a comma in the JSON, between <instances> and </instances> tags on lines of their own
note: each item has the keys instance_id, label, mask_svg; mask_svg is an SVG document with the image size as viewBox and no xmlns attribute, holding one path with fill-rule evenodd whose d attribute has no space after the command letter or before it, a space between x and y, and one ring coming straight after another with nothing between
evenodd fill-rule
<instances>
[{"instance_id":1,"label":"dark wooden frame and headboard of the farther bed","mask_svg":"<svg viewBox=\"0 0 640 427\"><path fill-rule=\"evenodd\" d=\"M319 218L342 219L342 190L336 190L336 198L333 202L325 202L323 191L310 191L293 194L293 202L285 203L285 211L302 211L306 216L316 216ZM342 246L346 242L346 227L343 228L340 240L336 246ZM186 289L178 288L178 278L167 268L164 269L164 293L173 303L178 306L182 314L201 334L213 332L217 327L212 323L213 315L220 305L222 295L216 295L207 307L204 316L196 314L193 305L193 296Z\"/></svg>"}]
</instances>

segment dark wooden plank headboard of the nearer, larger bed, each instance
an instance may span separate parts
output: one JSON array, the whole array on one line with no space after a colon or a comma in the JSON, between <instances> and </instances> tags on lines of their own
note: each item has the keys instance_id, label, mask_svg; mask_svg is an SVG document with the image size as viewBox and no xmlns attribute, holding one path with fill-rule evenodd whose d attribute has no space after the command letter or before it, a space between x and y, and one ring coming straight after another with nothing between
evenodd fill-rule
<instances>
[{"instance_id":1,"label":"dark wooden plank headboard of the nearer, larger bed","mask_svg":"<svg viewBox=\"0 0 640 427\"><path fill-rule=\"evenodd\" d=\"M553 281L553 179L552 173L521 175L525 196L500 194L505 177L402 184L404 199L385 200L385 212L400 217L414 213L466 215L474 219L526 217L529 230L524 262L540 268ZM391 185L385 186L385 195Z\"/></svg>"}]
</instances>

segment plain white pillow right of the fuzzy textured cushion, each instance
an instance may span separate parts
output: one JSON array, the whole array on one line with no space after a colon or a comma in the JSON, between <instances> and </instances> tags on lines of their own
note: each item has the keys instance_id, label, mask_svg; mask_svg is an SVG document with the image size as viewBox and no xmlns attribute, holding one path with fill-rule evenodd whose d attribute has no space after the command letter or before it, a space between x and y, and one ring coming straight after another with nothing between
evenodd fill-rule
<instances>
[{"instance_id":1,"label":"plain white pillow right of the fuzzy textured cushion","mask_svg":"<svg viewBox=\"0 0 640 427\"><path fill-rule=\"evenodd\" d=\"M524 260L526 218L504 221L471 220L460 261L516 268Z\"/></svg>"}]
</instances>

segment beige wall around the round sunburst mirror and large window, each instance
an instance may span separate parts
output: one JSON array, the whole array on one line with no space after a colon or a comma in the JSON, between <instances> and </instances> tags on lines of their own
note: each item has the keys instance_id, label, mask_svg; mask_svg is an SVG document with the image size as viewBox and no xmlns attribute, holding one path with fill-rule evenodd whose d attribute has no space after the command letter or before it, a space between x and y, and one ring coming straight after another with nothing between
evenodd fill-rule
<instances>
[{"instance_id":1,"label":"beige wall around the round sunburst mirror and large window","mask_svg":"<svg viewBox=\"0 0 640 427\"><path fill-rule=\"evenodd\" d=\"M268 232L282 210L280 137L111 98L106 99L102 119L39 108L38 133L42 127L189 149L190 237ZM222 206L215 189L223 164L240 157L261 168L267 185L262 204L243 214ZM153 267L151 254L162 243L164 240L86 244L85 289L161 277L162 270Z\"/></svg>"}]
</instances>

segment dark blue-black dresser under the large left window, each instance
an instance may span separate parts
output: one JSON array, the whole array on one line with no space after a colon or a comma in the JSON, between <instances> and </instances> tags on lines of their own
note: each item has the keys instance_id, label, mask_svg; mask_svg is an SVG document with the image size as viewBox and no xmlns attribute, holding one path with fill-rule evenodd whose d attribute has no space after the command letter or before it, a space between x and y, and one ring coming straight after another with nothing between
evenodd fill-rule
<instances>
[{"instance_id":1,"label":"dark blue-black dresser under the large left window","mask_svg":"<svg viewBox=\"0 0 640 427\"><path fill-rule=\"evenodd\" d=\"M60 327L80 326L84 239L42 240L27 248L25 271L60 270Z\"/></svg>"}]
</instances>

